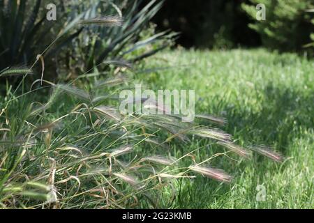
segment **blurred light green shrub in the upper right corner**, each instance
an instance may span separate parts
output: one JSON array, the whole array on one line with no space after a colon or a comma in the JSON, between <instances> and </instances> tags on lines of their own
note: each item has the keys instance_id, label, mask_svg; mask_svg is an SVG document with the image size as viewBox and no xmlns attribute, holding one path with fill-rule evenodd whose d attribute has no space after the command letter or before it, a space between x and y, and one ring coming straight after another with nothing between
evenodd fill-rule
<instances>
[{"instance_id":1,"label":"blurred light green shrub in the upper right corner","mask_svg":"<svg viewBox=\"0 0 314 223\"><path fill-rule=\"evenodd\" d=\"M260 33L266 47L280 51L303 51L304 45L310 43L313 15L306 10L314 7L312 0L251 0L250 5L242 4L242 8L252 17L254 22L249 26ZM266 6L266 20L256 20L256 5ZM306 48L308 49L308 48Z\"/></svg>"}]
</instances>

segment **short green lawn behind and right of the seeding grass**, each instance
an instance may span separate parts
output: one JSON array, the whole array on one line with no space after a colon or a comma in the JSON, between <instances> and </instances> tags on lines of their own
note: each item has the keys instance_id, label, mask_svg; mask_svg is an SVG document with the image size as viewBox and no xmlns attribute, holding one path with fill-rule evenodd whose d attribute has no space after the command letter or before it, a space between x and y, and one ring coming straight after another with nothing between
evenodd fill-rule
<instances>
[{"instance_id":1,"label":"short green lawn behind and right of the seeding grass","mask_svg":"<svg viewBox=\"0 0 314 223\"><path fill-rule=\"evenodd\" d=\"M196 112L227 118L224 130L237 144L274 146L285 155L282 164L259 155L217 157L212 164L234 176L230 185L182 180L173 201L163 192L164 208L314 208L313 61L264 49L175 50L154 56L147 66L167 69L139 79L152 89L194 89ZM194 155L202 161L219 151L209 143L195 139L186 151L200 148ZM256 200L257 185L264 185L266 201Z\"/></svg>"}]
</instances>

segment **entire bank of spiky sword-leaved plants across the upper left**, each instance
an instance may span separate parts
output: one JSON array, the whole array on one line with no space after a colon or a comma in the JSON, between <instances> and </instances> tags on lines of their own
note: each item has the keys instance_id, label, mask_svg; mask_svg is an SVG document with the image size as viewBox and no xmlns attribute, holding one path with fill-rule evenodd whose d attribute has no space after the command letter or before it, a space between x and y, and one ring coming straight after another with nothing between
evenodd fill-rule
<instances>
[{"instance_id":1,"label":"entire bank of spiky sword-leaved plants across the upper left","mask_svg":"<svg viewBox=\"0 0 314 223\"><path fill-rule=\"evenodd\" d=\"M56 3L57 21L46 20L48 3ZM37 55L43 54L43 63L36 63L32 69L35 78L40 78L44 66L45 79L57 79L60 74L68 76L69 70L80 75L108 58L132 62L144 59L171 43L172 33L147 32L151 17L162 3L150 1L141 9L138 1L0 0L0 70L31 66ZM123 16L124 24L80 24L103 15ZM20 79L6 78L13 84Z\"/></svg>"}]
</instances>

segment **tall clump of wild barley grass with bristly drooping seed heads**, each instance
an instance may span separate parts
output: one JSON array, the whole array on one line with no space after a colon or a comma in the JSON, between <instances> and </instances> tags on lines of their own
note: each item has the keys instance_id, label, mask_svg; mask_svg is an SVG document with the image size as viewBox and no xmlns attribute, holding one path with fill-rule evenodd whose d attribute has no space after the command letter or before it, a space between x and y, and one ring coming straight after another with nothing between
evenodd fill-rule
<instances>
[{"instance_id":1,"label":"tall clump of wild barley grass with bristly drooping seed heads","mask_svg":"<svg viewBox=\"0 0 314 223\"><path fill-rule=\"evenodd\" d=\"M117 26L119 21L105 17L82 24ZM106 63L131 67L117 61ZM1 74L17 71L29 73L29 70L8 69ZM118 78L101 85L115 86L112 83L121 82ZM154 191L172 186L170 179L192 178L193 173L230 183L232 177L224 171L202 167L214 157L188 167L182 166L181 161L190 159L193 151L182 157L171 155L174 146L185 146L195 136L220 142L239 155L246 154L233 144L230 134L211 126L182 123L179 116L119 114L110 98L98 100L103 97L99 85L90 84L89 89L82 89L75 81L54 84L39 79L33 87L42 81L51 86L53 93L45 104L38 101L39 108L33 108L31 95L43 91L43 86L18 97L12 93L13 99L1 102L0 205L3 208L130 207L140 197L152 201ZM225 123L209 115L198 117L220 125ZM148 150L146 144L154 150ZM167 155L159 150L165 150L165 144L169 146ZM259 148L257 152L280 161L278 154L269 149Z\"/></svg>"}]
</instances>

